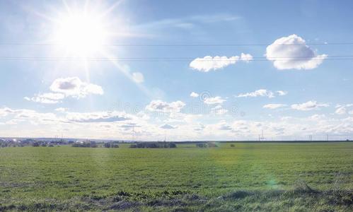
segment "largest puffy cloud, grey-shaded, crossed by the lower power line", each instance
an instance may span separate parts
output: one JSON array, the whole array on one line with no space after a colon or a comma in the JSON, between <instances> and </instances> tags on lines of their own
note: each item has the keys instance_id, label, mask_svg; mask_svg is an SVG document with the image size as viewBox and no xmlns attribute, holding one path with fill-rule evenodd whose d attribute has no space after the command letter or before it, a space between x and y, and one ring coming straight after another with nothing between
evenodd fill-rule
<instances>
[{"instance_id":1,"label":"largest puffy cloud, grey-shaded, crossed by the lower power line","mask_svg":"<svg viewBox=\"0 0 353 212\"><path fill-rule=\"evenodd\" d=\"M298 35L289 35L275 40L266 48L266 57L277 69L315 69L327 54L318 55Z\"/></svg>"}]
</instances>

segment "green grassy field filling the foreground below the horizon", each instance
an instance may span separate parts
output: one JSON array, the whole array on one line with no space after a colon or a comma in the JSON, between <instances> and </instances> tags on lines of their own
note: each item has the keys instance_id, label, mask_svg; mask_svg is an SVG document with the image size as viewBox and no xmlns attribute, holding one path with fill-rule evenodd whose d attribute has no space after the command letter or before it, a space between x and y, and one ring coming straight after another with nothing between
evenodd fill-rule
<instances>
[{"instance_id":1,"label":"green grassy field filling the foreground below the horizon","mask_svg":"<svg viewBox=\"0 0 353 212\"><path fill-rule=\"evenodd\" d=\"M353 143L0 148L0 211L353 211Z\"/></svg>"}]
</instances>

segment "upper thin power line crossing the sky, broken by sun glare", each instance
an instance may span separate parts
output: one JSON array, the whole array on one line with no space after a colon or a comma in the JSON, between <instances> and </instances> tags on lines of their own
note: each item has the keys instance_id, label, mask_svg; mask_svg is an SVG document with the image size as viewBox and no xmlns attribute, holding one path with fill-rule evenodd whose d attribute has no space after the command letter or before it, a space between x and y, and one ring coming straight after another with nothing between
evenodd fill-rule
<instances>
[{"instance_id":1,"label":"upper thin power line crossing the sky, broken by sun glare","mask_svg":"<svg viewBox=\"0 0 353 212\"><path fill-rule=\"evenodd\" d=\"M62 46L62 44L54 43L25 43L25 42L0 42L0 45L7 46ZM261 44L261 43L248 43L248 44L102 44L105 47L241 47L241 46L305 46L305 45L353 45L353 42L321 42L321 43L306 43L306 44Z\"/></svg>"}]
</instances>

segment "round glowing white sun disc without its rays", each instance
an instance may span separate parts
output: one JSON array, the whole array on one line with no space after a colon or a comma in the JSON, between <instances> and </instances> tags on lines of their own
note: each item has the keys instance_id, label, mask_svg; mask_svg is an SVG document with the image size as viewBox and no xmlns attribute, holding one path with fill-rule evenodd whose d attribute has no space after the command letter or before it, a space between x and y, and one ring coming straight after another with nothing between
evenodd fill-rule
<instances>
[{"instance_id":1,"label":"round glowing white sun disc without its rays","mask_svg":"<svg viewBox=\"0 0 353 212\"><path fill-rule=\"evenodd\" d=\"M90 57L108 42L107 24L99 14L71 11L57 20L54 42L71 56Z\"/></svg>"}]
</instances>

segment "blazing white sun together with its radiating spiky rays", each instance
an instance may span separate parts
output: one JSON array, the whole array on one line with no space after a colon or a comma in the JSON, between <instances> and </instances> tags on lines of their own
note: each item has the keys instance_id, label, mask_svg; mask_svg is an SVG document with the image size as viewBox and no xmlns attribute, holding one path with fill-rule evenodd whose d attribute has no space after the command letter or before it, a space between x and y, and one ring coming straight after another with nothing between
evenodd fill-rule
<instances>
[{"instance_id":1,"label":"blazing white sun together with its radiating spiky rays","mask_svg":"<svg viewBox=\"0 0 353 212\"><path fill-rule=\"evenodd\" d=\"M141 37L141 34L124 32L124 30L112 32L110 31L110 18L107 16L114 11L117 6L125 0L115 1L105 10L100 10L100 5L92 6L90 0L86 0L80 7L76 4L69 4L70 1L62 0L62 11L54 8L54 15L47 16L33 9L27 9L35 15L53 23L53 32L50 36L50 45L55 47L54 54L64 55L68 58L80 58L83 63L86 75L86 81L91 81L89 58L102 57L108 59L121 73L123 73L129 81L132 81L145 95L150 98L152 93L143 84L134 80L132 73L112 58L115 56L106 51L110 39L115 37ZM56 15L55 15L56 14ZM124 29L124 23L120 23L120 29ZM109 30L108 30L109 29ZM145 37L145 35L142 35Z\"/></svg>"}]
</instances>

